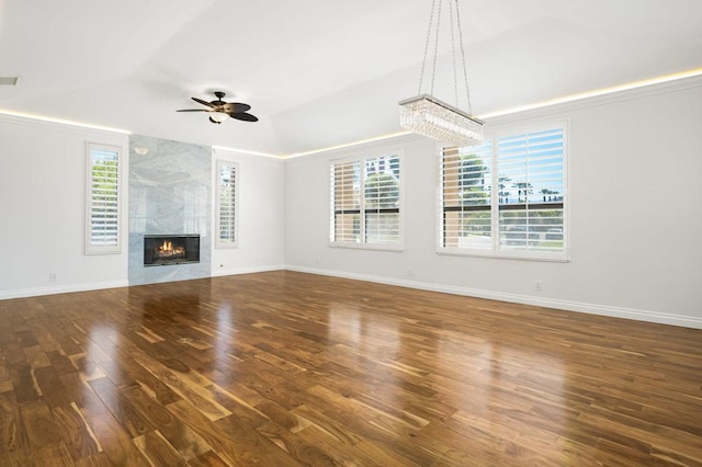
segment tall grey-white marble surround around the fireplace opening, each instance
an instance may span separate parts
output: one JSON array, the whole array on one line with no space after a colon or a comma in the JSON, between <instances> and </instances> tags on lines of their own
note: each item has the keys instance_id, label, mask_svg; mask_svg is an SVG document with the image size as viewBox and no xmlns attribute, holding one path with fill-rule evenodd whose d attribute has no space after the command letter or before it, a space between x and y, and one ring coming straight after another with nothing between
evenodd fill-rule
<instances>
[{"instance_id":1,"label":"tall grey-white marble surround around the fireplace opening","mask_svg":"<svg viewBox=\"0 0 702 467\"><path fill-rule=\"evenodd\" d=\"M212 148L129 136L128 193L129 285L210 277ZM200 262L146 266L144 238L149 235L199 235Z\"/></svg>"}]
</instances>

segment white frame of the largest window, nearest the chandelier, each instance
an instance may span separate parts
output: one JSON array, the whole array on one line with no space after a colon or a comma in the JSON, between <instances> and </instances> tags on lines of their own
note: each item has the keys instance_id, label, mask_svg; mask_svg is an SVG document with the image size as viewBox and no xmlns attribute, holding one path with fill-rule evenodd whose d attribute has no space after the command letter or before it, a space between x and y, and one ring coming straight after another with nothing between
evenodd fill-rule
<instances>
[{"instance_id":1,"label":"white frame of the largest window, nearest the chandelier","mask_svg":"<svg viewBox=\"0 0 702 467\"><path fill-rule=\"evenodd\" d=\"M490 157L490 180L491 186L499 186L499 171L498 171L498 153L497 146L498 140L502 138L513 137L523 134L534 134L540 132L547 132L554 129L563 130L563 249L561 250L519 250L519 249L505 249L500 247L500 230L499 230L499 192L491 191L490 204L488 210L490 213L490 248L461 248L461 247L444 247L444 213L446 212L443 206L443 168L442 158L444 148L449 148L444 145L438 145L438 190L437 190L437 253L449 255L464 255L464 257L477 257L477 258L498 258L498 259L512 259L512 260L530 260L530 261L545 261L545 262L568 262L570 261L570 191L569 191L569 163L570 163L570 150L569 150L569 137L570 137L570 122L568 118L558 121L544 121L531 124L514 124L514 125L500 125L491 132L486 132L485 140L489 140L491 144L491 157ZM539 206L539 205L536 205ZM542 204L543 206L543 204ZM546 204L548 206L548 204ZM510 208L503 209L509 210ZM471 210L471 209L466 209Z\"/></svg>"}]
</instances>

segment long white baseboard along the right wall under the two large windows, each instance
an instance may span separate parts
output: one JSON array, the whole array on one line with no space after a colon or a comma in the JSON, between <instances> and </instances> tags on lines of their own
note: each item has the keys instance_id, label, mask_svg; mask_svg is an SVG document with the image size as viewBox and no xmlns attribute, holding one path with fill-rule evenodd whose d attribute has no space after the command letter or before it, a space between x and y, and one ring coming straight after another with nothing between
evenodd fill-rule
<instances>
[{"instance_id":1,"label":"long white baseboard along the right wall under the two large windows","mask_svg":"<svg viewBox=\"0 0 702 467\"><path fill-rule=\"evenodd\" d=\"M561 300L555 298L534 297L531 295L509 294L506 292L484 291L479 288L457 287L453 285L431 284L426 282L407 281L396 277L375 276L369 274L349 273L342 271L322 270L317 267L305 267L286 265L287 271L297 271L310 274L320 274L356 281L375 282L378 284L397 285L400 287L417 288L420 291L442 292L445 294L464 295L468 297L487 298L490 300L510 301L522 305L533 305L544 308L555 308L567 311L586 312L611 318L625 318L637 321L656 322L660 324L680 326L684 328L702 329L702 318L672 315L652 310L641 310L633 308L612 307L607 305L587 304L580 301Z\"/></svg>"}]
</instances>

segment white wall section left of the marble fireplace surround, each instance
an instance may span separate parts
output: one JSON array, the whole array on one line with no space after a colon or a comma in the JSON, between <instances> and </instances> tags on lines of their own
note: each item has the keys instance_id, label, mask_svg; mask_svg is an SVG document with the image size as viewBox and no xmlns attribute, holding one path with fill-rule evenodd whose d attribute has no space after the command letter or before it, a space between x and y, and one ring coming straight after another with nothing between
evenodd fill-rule
<instances>
[{"instance_id":1,"label":"white wall section left of the marble fireplace surround","mask_svg":"<svg viewBox=\"0 0 702 467\"><path fill-rule=\"evenodd\" d=\"M87 141L123 148L126 192L127 135L0 116L0 298L126 285L126 196L122 253L84 254Z\"/></svg>"}]
</instances>

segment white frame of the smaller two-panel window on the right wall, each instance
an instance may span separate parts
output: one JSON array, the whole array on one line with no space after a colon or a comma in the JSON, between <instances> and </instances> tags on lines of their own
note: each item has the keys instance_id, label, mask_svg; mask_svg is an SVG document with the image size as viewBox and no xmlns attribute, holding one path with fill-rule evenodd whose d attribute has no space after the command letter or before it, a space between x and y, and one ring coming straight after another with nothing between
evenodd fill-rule
<instances>
[{"instance_id":1,"label":"white frame of the smaller two-panel window on the right wall","mask_svg":"<svg viewBox=\"0 0 702 467\"><path fill-rule=\"evenodd\" d=\"M399 194L398 194L398 200L397 200L397 208L365 208L365 196L364 196L364 189L361 189L361 194L360 194L360 200L361 200L361 205L359 206L358 209L343 209L343 214L364 214L364 213L390 213L390 212L397 212L397 223L398 223L398 228L397 228L397 237L398 240L396 243L369 243L366 240L366 235L367 232L365 232L365 216L361 216L361 220L360 220L360 226L359 229L361 231L361 240L362 241L336 241L335 238L335 234L336 234L336 214L337 209L335 206L335 182L336 182L336 178L335 178L335 167L338 164L352 164L352 163L359 163L361 166L360 168L360 172L361 172L361 180L359 181L361 186L364 186L365 184L365 163L370 160L373 159L378 159L378 158L392 158L392 157L397 157L398 159L398 163L399 163L399 175L397 176L397 182L399 184ZM395 148L395 149L389 149L389 150L374 150L371 152L365 152L363 155L355 155L355 156L348 156L348 157L343 157L343 158L339 158L339 159L333 159L329 161L329 193L328 193L328 200L329 200L329 232L328 232L328 243L329 247L332 248L350 248L350 249L361 249L361 250L380 250L380 251L403 251L404 250L404 215L403 215L403 206L404 206L404 151L399 148Z\"/></svg>"}]
</instances>

